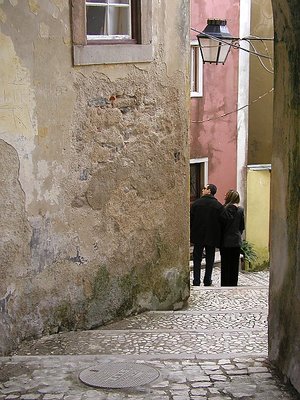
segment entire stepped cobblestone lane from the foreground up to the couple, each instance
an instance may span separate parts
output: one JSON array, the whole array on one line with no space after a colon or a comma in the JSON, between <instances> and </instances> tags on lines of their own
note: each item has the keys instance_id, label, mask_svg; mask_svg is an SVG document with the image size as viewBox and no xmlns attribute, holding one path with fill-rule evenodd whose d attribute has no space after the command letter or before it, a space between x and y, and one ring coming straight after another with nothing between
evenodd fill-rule
<instances>
[{"instance_id":1,"label":"entire stepped cobblestone lane from the foreground up to the couple","mask_svg":"<svg viewBox=\"0 0 300 400\"><path fill-rule=\"evenodd\" d=\"M219 274L215 268L213 287L191 287L185 310L22 343L0 358L0 400L298 399L267 360L268 272L241 273L237 288L221 288ZM101 381L118 363L124 368L111 382L138 364L131 385L79 379L93 371ZM145 368L156 379L139 384Z\"/></svg>"}]
</instances>

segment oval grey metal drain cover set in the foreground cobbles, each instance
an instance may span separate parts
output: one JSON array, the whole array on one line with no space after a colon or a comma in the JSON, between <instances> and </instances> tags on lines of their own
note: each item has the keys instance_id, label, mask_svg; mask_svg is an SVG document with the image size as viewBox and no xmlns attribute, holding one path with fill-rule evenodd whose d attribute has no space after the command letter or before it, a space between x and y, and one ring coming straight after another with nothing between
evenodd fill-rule
<instances>
[{"instance_id":1,"label":"oval grey metal drain cover set in the foreground cobbles","mask_svg":"<svg viewBox=\"0 0 300 400\"><path fill-rule=\"evenodd\" d=\"M99 363L79 374L86 385L101 388L130 388L150 383L159 372L149 365L125 362Z\"/></svg>"}]
</instances>

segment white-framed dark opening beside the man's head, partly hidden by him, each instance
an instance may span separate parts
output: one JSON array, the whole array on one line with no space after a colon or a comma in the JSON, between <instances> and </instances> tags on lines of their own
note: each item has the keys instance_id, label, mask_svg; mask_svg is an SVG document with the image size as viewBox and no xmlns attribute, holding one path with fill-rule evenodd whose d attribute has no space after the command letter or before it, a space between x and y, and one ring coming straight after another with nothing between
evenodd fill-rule
<instances>
[{"instance_id":1,"label":"white-framed dark opening beside the man's head, partly hidden by him","mask_svg":"<svg viewBox=\"0 0 300 400\"><path fill-rule=\"evenodd\" d=\"M208 183L208 158L190 160L190 203L201 197L202 188Z\"/></svg>"}]
</instances>

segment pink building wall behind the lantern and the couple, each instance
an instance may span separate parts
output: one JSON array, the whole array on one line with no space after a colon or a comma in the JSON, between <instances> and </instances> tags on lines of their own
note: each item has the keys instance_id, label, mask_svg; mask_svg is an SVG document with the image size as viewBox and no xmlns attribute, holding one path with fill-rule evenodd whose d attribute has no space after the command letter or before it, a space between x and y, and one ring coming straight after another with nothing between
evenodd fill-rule
<instances>
[{"instance_id":1,"label":"pink building wall behind the lantern and the couple","mask_svg":"<svg viewBox=\"0 0 300 400\"><path fill-rule=\"evenodd\" d=\"M192 0L191 28L201 31L207 19L226 19L230 33L238 37L239 3ZM191 40L196 34L191 31ZM191 98L190 158L208 157L208 183L218 187L216 197L221 202L226 191L237 186L237 113L232 112L237 103L238 50L231 49L224 65L203 65L203 97Z\"/></svg>"}]
</instances>

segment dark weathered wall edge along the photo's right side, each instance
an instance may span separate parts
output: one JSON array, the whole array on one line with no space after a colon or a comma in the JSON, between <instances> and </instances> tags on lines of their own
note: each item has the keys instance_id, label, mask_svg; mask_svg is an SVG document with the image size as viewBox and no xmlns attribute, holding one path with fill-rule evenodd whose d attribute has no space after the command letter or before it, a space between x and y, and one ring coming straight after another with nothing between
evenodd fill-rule
<instances>
[{"instance_id":1,"label":"dark weathered wall edge along the photo's right side","mask_svg":"<svg viewBox=\"0 0 300 400\"><path fill-rule=\"evenodd\" d=\"M300 392L300 10L273 0L275 109L269 355Z\"/></svg>"}]
</instances>

